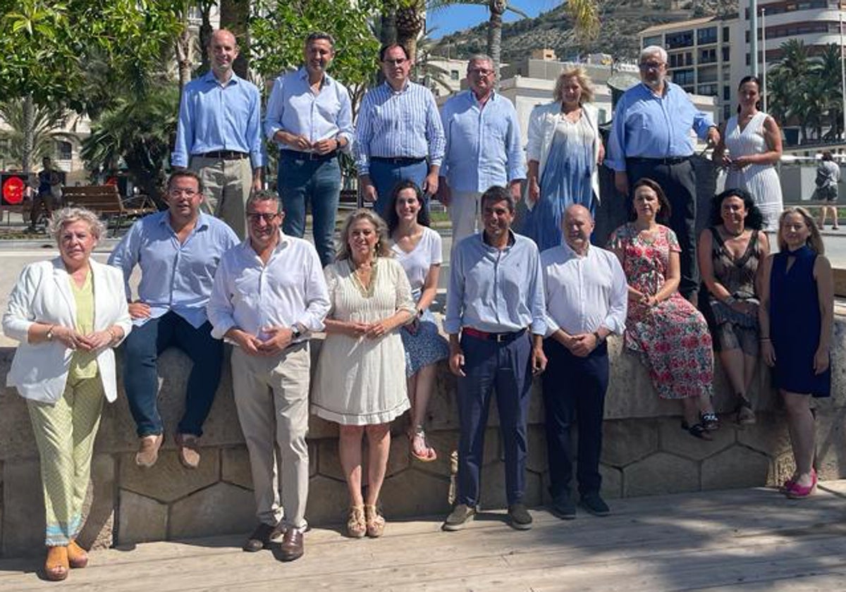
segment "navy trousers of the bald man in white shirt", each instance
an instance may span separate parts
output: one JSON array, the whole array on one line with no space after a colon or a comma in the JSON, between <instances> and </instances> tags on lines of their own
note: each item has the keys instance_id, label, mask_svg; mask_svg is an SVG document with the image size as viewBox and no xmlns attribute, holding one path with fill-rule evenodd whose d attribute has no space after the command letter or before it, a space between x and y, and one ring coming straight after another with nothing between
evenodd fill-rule
<instances>
[{"instance_id":1,"label":"navy trousers of the bald man in white shirt","mask_svg":"<svg viewBox=\"0 0 846 592\"><path fill-rule=\"evenodd\" d=\"M602 477L602 417L608 389L608 348L602 343L586 358L570 353L555 339L543 343L547 370L541 375L547 419L549 492L553 499L569 494L573 480L573 445L570 427L579 431L579 493L599 493Z\"/></svg>"}]
</instances>

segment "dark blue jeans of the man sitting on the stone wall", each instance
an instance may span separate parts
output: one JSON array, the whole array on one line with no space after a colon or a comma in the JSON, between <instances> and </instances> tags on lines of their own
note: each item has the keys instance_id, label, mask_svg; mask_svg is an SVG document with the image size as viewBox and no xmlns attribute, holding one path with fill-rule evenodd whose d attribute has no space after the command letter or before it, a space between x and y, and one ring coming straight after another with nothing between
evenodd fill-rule
<instances>
[{"instance_id":1,"label":"dark blue jeans of the man sitting on the stone wall","mask_svg":"<svg viewBox=\"0 0 846 592\"><path fill-rule=\"evenodd\" d=\"M181 349L194 363L188 375L185 412L179 421L179 433L203 434L203 422L220 382L223 342L211 337L208 321L195 329L171 310L142 326L133 327L124 342L124 389L139 437L164 431L157 406L157 359L171 346Z\"/></svg>"}]
</instances>

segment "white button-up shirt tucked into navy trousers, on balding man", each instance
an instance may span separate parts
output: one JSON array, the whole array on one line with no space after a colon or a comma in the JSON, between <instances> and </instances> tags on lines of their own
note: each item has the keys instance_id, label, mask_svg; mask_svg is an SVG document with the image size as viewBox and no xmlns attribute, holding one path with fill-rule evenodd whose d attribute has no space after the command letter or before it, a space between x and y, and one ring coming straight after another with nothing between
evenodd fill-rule
<instances>
[{"instance_id":1,"label":"white button-up shirt tucked into navy trousers, on balding man","mask_svg":"<svg viewBox=\"0 0 846 592\"><path fill-rule=\"evenodd\" d=\"M558 329L570 335L604 326L622 335L629 287L623 267L611 251L589 246L577 255L569 244L541 253L547 301L547 337Z\"/></svg>"}]
</instances>

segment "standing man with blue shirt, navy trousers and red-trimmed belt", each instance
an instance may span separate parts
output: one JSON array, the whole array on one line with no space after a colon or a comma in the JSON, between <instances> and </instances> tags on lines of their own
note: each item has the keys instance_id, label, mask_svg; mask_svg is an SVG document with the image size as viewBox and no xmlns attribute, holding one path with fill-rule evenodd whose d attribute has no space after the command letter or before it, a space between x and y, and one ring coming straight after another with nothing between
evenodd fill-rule
<instances>
[{"instance_id":1,"label":"standing man with blue shirt, navy trousers and red-trimmed belt","mask_svg":"<svg viewBox=\"0 0 846 592\"><path fill-rule=\"evenodd\" d=\"M449 368L458 380L458 495L444 530L459 530L479 503L487 409L497 391L505 450L508 518L531 528L523 503L527 456L526 415L532 376L547 365L541 258L536 244L511 231L514 198L496 185L481 196L483 232L461 241L450 263L447 317ZM459 339L460 332L460 339Z\"/></svg>"}]
</instances>

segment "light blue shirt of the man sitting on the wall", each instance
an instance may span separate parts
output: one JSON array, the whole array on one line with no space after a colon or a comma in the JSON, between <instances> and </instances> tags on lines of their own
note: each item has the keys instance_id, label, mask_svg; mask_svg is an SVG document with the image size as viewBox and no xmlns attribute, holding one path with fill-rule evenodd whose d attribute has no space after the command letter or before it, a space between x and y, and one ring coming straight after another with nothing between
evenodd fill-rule
<instances>
[{"instance_id":1,"label":"light blue shirt of the man sitting on the wall","mask_svg":"<svg viewBox=\"0 0 846 592\"><path fill-rule=\"evenodd\" d=\"M160 211L135 222L108 258L124 271L126 298L132 298L129 277L141 269L138 299L150 306L156 319L168 310L199 327L206 322L206 304L217 263L223 253L239 244L226 222L201 213L194 230L179 243L170 226L170 212ZM133 319L136 326L146 319Z\"/></svg>"}]
</instances>

